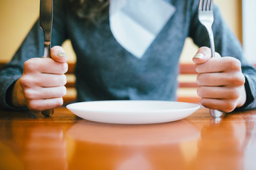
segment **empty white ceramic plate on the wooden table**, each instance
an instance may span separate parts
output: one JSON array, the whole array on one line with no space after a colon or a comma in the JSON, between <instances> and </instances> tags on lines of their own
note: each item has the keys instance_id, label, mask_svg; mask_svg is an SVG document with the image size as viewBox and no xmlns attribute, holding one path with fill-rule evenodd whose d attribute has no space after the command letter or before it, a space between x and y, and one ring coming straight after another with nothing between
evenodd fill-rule
<instances>
[{"instance_id":1,"label":"empty white ceramic plate on the wooden table","mask_svg":"<svg viewBox=\"0 0 256 170\"><path fill-rule=\"evenodd\" d=\"M100 123L151 124L181 120L200 106L176 101L87 101L67 108L80 118Z\"/></svg>"}]
</instances>

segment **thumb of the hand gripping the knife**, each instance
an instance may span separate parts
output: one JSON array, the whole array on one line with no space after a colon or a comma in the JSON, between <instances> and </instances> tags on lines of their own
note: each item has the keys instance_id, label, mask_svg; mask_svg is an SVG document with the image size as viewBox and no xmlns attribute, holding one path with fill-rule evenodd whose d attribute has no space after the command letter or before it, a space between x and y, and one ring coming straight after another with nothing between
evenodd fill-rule
<instances>
[{"instance_id":1,"label":"thumb of the hand gripping the knife","mask_svg":"<svg viewBox=\"0 0 256 170\"><path fill-rule=\"evenodd\" d=\"M55 62L67 62L68 56L65 54L63 47L54 46L50 50L50 57L52 57Z\"/></svg>"}]
</instances>

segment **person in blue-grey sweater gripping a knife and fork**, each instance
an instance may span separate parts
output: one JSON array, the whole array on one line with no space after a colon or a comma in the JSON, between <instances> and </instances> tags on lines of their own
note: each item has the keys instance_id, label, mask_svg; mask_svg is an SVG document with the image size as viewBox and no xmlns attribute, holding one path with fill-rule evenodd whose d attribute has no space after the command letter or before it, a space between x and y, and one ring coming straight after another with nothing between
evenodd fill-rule
<instances>
[{"instance_id":1,"label":"person in blue-grey sweater gripping a knife and fork","mask_svg":"<svg viewBox=\"0 0 256 170\"><path fill-rule=\"evenodd\" d=\"M198 1L166 0L176 9L142 58L114 39L107 0L55 0L52 58L43 56L43 33L36 22L0 74L0 106L43 111L63 104L68 57L60 45L70 39L77 56L78 101L176 100L178 60L187 37L198 72L198 96L207 108L231 112L256 107L256 71L215 6L216 57L198 21ZM205 47L208 46L208 47ZM220 57L221 56L221 57ZM9 97L11 96L11 97Z\"/></svg>"}]
</instances>

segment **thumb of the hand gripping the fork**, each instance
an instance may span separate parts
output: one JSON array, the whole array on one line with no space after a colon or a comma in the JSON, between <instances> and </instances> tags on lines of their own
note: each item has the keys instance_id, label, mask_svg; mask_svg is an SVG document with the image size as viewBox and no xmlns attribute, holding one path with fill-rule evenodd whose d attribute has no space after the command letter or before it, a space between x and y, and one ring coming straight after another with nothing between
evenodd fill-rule
<instances>
[{"instance_id":1,"label":"thumb of the hand gripping the fork","mask_svg":"<svg viewBox=\"0 0 256 170\"><path fill-rule=\"evenodd\" d=\"M196 55L193 57L193 62L196 64L203 64L207 62L211 57L210 48L201 47L196 52Z\"/></svg>"}]
</instances>

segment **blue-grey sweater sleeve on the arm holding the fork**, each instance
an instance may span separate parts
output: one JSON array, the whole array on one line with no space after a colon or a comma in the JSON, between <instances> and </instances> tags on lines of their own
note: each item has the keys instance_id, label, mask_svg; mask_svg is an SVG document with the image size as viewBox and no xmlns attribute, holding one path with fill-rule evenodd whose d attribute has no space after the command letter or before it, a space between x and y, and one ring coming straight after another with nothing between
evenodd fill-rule
<instances>
[{"instance_id":1,"label":"blue-grey sweater sleeve on the arm holding the fork","mask_svg":"<svg viewBox=\"0 0 256 170\"><path fill-rule=\"evenodd\" d=\"M192 4L189 36L193 39L193 42L198 45L198 47L210 47L206 28L204 28L198 21L198 0L193 1ZM242 64L242 74L245 75L247 81L245 84L247 101L245 102L245 106L242 106L240 110L256 108L256 69L252 66L252 64L247 62L242 52L242 45L223 20L218 6L214 6L213 35L215 41L215 51L223 57L235 57L240 60Z\"/></svg>"}]
</instances>

